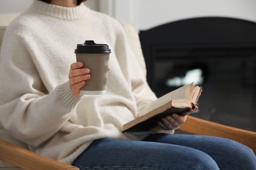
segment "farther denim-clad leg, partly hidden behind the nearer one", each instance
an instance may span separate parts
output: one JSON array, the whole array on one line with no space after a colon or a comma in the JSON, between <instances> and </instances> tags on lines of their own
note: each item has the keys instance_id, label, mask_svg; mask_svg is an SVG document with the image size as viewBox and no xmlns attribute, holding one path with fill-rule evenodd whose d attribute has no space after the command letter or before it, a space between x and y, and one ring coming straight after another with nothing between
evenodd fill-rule
<instances>
[{"instance_id":1,"label":"farther denim-clad leg, partly hidden behind the nearer one","mask_svg":"<svg viewBox=\"0 0 256 170\"><path fill-rule=\"evenodd\" d=\"M215 160L220 169L256 169L256 157L251 148L244 144L204 135L154 134L144 141L171 143L201 150Z\"/></svg>"}]
</instances>

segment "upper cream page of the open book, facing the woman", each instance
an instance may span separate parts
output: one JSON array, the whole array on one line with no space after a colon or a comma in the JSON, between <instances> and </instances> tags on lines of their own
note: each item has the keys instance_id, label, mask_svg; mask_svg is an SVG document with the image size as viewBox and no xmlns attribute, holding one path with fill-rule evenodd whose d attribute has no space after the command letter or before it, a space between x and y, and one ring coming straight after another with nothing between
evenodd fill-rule
<instances>
[{"instance_id":1,"label":"upper cream page of the open book, facing the woman","mask_svg":"<svg viewBox=\"0 0 256 170\"><path fill-rule=\"evenodd\" d=\"M165 103L168 103L171 100L175 99L181 99L181 100L190 100L190 88L192 87L192 83L188 84L186 86L182 86L181 88L178 88L177 90L174 90L172 92L169 92L156 101L153 101L148 106L148 112L160 107L161 105L165 105Z\"/></svg>"}]
</instances>

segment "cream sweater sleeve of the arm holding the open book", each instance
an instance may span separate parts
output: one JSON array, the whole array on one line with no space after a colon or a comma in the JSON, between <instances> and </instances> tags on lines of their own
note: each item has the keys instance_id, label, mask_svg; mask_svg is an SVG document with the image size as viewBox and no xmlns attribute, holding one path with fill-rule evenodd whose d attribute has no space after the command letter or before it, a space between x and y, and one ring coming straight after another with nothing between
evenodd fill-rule
<instances>
[{"instance_id":1,"label":"cream sweater sleeve of the arm holding the open book","mask_svg":"<svg viewBox=\"0 0 256 170\"><path fill-rule=\"evenodd\" d=\"M133 91L137 103L137 116L141 116L146 112L146 106L156 100L157 97L148 86L142 67L139 65L137 56L131 50L123 30L119 33L117 44L117 58L121 56L119 63L121 64L124 75L129 80L127 83L130 84L131 90Z\"/></svg>"}]
</instances>

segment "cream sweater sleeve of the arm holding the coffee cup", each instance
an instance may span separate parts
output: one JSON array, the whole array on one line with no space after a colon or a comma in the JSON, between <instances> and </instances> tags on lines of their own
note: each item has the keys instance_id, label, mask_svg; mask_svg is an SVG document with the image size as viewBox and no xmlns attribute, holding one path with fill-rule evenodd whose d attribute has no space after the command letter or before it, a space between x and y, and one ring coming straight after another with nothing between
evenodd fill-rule
<instances>
[{"instance_id":1,"label":"cream sweater sleeve of the arm holding the coffee cup","mask_svg":"<svg viewBox=\"0 0 256 170\"><path fill-rule=\"evenodd\" d=\"M16 139L32 146L47 141L72 116L79 97L69 82L48 92L30 57L16 37L5 35L0 54L0 121Z\"/></svg>"}]
</instances>

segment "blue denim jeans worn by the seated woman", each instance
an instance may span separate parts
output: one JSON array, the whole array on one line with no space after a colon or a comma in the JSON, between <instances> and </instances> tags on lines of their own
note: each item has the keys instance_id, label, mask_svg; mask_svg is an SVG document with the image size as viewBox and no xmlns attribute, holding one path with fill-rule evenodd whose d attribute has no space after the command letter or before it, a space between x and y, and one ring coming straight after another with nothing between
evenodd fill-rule
<instances>
[{"instance_id":1,"label":"blue denim jeans worn by the seated woman","mask_svg":"<svg viewBox=\"0 0 256 170\"><path fill-rule=\"evenodd\" d=\"M202 135L154 134L143 141L99 139L73 165L83 169L256 169L247 146Z\"/></svg>"}]
</instances>

